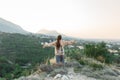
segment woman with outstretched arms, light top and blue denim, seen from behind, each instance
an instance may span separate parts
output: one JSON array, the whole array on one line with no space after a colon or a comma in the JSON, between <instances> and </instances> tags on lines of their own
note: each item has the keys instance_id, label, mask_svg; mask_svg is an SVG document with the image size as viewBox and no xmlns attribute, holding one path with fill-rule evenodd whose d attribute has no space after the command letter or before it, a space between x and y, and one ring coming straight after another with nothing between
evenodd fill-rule
<instances>
[{"instance_id":1,"label":"woman with outstretched arms, light top and blue denim, seen from behind","mask_svg":"<svg viewBox=\"0 0 120 80\"><path fill-rule=\"evenodd\" d=\"M64 46L71 45L75 41L64 41L62 36L58 35L57 40L48 44L43 45L43 48L54 46L55 47L55 56L57 64L64 64Z\"/></svg>"}]
</instances>

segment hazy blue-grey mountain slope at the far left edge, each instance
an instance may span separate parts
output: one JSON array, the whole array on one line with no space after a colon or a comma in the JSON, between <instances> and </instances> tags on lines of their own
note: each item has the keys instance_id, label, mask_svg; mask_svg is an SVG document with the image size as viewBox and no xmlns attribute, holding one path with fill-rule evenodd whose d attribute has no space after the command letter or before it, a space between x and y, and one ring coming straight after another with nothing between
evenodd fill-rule
<instances>
[{"instance_id":1,"label":"hazy blue-grey mountain slope at the far left edge","mask_svg":"<svg viewBox=\"0 0 120 80\"><path fill-rule=\"evenodd\" d=\"M0 18L0 32L27 34L19 25Z\"/></svg>"}]
</instances>

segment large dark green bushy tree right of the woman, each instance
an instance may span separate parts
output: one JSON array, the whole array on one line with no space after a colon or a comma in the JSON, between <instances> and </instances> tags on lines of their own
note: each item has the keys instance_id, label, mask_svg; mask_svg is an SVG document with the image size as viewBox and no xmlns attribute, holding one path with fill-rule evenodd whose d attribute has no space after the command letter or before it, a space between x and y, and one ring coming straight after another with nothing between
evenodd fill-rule
<instances>
[{"instance_id":1,"label":"large dark green bushy tree right of the woman","mask_svg":"<svg viewBox=\"0 0 120 80\"><path fill-rule=\"evenodd\" d=\"M85 45L84 53L88 57L92 57L97 59L98 57L102 57L106 63L112 63L113 55L111 55L107 48L105 42L100 42L97 44L87 44Z\"/></svg>"}]
</instances>

